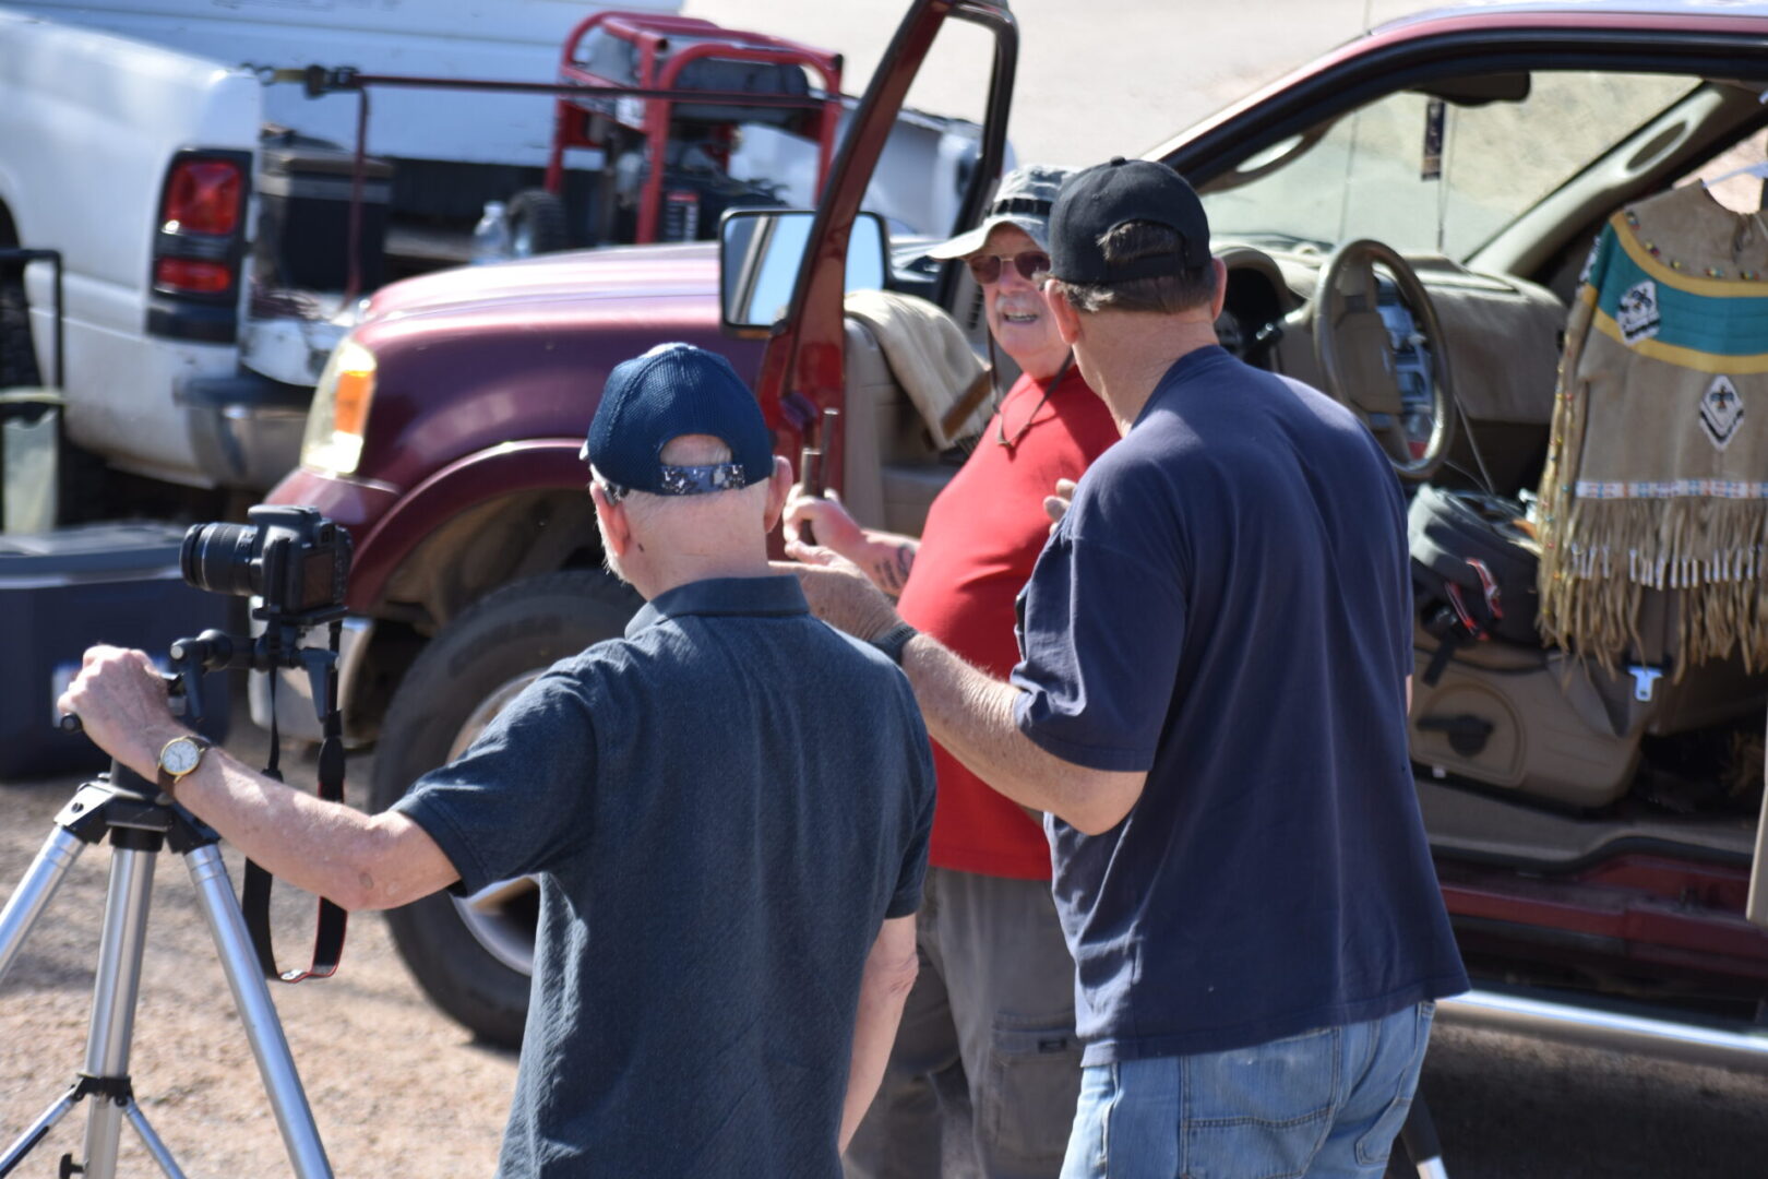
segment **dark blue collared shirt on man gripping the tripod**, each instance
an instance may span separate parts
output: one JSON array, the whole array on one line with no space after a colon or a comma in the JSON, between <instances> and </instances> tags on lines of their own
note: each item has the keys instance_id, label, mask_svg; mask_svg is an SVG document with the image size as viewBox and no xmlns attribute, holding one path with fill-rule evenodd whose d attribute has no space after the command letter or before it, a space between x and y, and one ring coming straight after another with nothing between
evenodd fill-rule
<instances>
[{"instance_id":1,"label":"dark blue collared shirt on man gripping the tripod","mask_svg":"<svg viewBox=\"0 0 1768 1179\"><path fill-rule=\"evenodd\" d=\"M398 810L467 891L539 877L499 1174L842 1174L861 967L919 905L934 767L909 681L796 578L659 594Z\"/></svg>"}]
</instances>

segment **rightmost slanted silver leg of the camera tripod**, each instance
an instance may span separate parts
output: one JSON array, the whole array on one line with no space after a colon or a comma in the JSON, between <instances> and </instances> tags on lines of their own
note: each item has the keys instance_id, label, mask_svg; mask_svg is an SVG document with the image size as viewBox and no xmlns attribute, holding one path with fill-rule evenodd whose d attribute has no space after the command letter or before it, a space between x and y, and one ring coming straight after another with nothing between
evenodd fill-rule
<instances>
[{"instance_id":1,"label":"rightmost slanted silver leg of the camera tripod","mask_svg":"<svg viewBox=\"0 0 1768 1179\"><path fill-rule=\"evenodd\" d=\"M209 932L216 939L216 951L221 955L221 969L226 970L228 986L233 988L233 1004L239 1008L240 1023L246 1025L251 1053L258 1059L258 1075L263 1076L263 1089L271 1098L271 1110L276 1114L276 1128L283 1135L288 1161L293 1165L297 1179L331 1179L325 1145L320 1142L313 1110L308 1107L308 1094L301 1087L299 1073L295 1073L295 1059L288 1052L283 1025L276 1018L271 988L265 985L258 956L251 949L246 917L233 898L233 886L228 882L221 852L210 843L186 852L184 861L191 866L196 900L209 921Z\"/></svg>"}]
</instances>

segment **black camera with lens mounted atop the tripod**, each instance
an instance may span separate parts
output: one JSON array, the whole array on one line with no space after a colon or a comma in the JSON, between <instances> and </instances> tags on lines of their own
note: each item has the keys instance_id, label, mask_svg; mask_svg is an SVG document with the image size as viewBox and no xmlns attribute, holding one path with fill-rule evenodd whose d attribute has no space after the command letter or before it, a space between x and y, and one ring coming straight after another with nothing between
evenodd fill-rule
<instances>
[{"instance_id":1,"label":"black camera with lens mounted atop the tripod","mask_svg":"<svg viewBox=\"0 0 1768 1179\"><path fill-rule=\"evenodd\" d=\"M184 580L214 594L263 599L265 622L311 626L343 617L350 534L313 507L258 504L251 523L200 523L184 534Z\"/></svg>"}]
</instances>

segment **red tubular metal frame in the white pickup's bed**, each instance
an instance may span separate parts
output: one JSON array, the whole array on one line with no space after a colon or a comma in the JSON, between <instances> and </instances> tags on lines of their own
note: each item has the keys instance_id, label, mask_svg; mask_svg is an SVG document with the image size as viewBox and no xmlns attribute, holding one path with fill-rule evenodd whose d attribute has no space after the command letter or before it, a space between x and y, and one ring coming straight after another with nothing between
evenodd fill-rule
<instances>
[{"instance_id":1,"label":"red tubular metal frame in the white pickup's bed","mask_svg":"<svg viewBox=\"0 0 1768 1179\"><path fill-rule=\"evenodd\" d=\"M820 94L794 67L820 76ZM644 136L647 173L638 203L636 242L658 240L667 202L693 203L693 212L698 209L698 194L693 191L665 193L668 143L672 136L682 138L684 126L698 131L702 148L723 168L735 145L735 124L766 111L781 129L817 141L819 191L829 175L842 115L840 53L767 34L721 28L693 16L596 12L566 39L559 78L599 92L559 95L546 191L564 194L566 148L606 150L610 138L619 134L615 129ZM799 85L803 90L794 92ZM610 95L608 88L628 88L633 94ZM718 94L695 94L714 90ZM654 97L658 92L667 95ZM741 108L730 101L732 92L773 101L767 106ZM803 101L789 103L794 97ZM608 163L612 166L612 154Z\"/></svg>"}]
</instances>

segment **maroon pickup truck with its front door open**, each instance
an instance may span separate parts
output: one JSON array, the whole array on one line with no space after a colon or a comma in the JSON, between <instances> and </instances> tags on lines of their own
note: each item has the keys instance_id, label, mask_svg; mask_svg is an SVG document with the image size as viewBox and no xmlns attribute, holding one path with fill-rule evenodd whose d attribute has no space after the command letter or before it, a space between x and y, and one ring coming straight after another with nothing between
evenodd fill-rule
<instances>
[{"instance_id":1,"label":"maroon pickup truck with its front door open","mask_svg":"<svg viewBox=\"0 0 1768 1179\"><path fill-rule=\"evenodd\" d=\"M948 21L994 42L979 166L951 228L974 224L1001 173L1015 21L988 0L916 0L817 210L730 214L716 247L431 274L366 306L318 389L302 467L272 500L316 506L355 537L343 709L350 737L377 742L377 806L636 608L601 567L578 460L615 362L668 339L723 352L787 456L819 410L842 408L829 484L870 525L919 529L962 454L928 442L843 295L921 295L983 343L964 267L891 246L861 212ZM1147 156L1185 171L1209 210L1229 267L1227 348L1344 399L1414 488L1515 502L1542 475L1589 242L1616 210L1711 175L1752 136L1761 159L1764 85L1756 9L1478 5L1381 27ZM1391 384L1370 391L1370 373ZM1469 965L1579 1002L1752 1015L1768 993L1768 882L1752 879L1761 668L1674 677L1673 656L1646 652L1607 673L1503 640L1437 659L1439 640L1420 626L1413 757ZM304 709L293 696L285 730ZM536 905L514 880L433 896L392 928L442 1008L509 1043Z\"/></svg>"}]
</instances>

